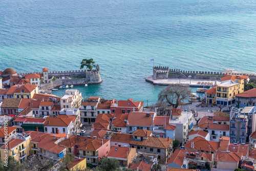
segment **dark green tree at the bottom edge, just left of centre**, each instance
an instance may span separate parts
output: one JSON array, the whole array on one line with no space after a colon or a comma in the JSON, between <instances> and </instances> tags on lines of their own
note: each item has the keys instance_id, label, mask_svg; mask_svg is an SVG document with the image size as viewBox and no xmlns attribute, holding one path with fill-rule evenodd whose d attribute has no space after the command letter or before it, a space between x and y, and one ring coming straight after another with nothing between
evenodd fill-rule
<instances>
[{"instance_id":1,"label":"dark green tree at the bottom edge, just left of centre","mask_svg":"<svg viewBox=\"0 0 256 171\"><path fill-rule=\"evenodd\" d=\"M96 171L120 171L119 161L116 159L108 159L103 157L100 160L99 166Z\"/></svg>"}]
</instances>

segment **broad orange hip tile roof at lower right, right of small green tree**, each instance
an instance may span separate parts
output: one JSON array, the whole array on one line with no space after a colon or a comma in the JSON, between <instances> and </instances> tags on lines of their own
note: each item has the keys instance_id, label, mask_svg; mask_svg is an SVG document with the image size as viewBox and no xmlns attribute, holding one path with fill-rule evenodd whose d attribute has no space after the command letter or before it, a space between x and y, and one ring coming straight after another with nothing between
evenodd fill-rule
<instances>
[{"instance_id":1,"label":"broad orange hip tile roof at lower right, right of small green tree","mask_svg":"<svg viewBox=\"0 0 256 171\"><path fill-rule=\"evenodd\" d=\"M194 141L194 147L191 147L191 141ZM216 152L217 149L219 148L219 145L220 145L219 142L207 141L202 137L195 137L193 140L190 140L185 144L185 148L210 151L209 149L210 147L211 152Z\"/></svg>"}]
</instances>

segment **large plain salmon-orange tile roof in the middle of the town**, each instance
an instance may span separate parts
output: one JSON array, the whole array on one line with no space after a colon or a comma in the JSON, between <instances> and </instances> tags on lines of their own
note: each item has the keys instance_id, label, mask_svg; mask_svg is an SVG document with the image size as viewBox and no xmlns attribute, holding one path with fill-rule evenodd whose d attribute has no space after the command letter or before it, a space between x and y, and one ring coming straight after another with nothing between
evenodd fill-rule
<instances>
[{"instance_id":1,"label":"large plain salmon-orange tile roof in the middle of the town","mask_svg":"<svg viewBox=\"0 0 256 171\"><path fill-rule=\"evenodd\" d=\"M147 116L150 113L150 116ZM152 126L154 112L130 112L126 125L129 126ZM142 122L143 121L143 122Z\"/></svg>"}]
</instances>

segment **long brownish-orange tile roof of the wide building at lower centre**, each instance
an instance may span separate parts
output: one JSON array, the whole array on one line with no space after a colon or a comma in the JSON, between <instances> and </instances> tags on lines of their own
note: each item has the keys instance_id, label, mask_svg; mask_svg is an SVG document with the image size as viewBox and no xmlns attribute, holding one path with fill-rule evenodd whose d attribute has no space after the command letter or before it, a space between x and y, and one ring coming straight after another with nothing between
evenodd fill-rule
<instances>
[{"instance_id":1,"label":"long brownish-orange tile roof of the wide building at lower centre","mask_svg":"<svg viewBox=\"0 0 256 171\"><path fill-rule=\"evenodd\" d=\"M160 138L160 137L147 137L147 139L143 139L143 141L135 141L131 140L130 144L141 145L141 146L149 146L156 148L167 148L170 144L172 144L173 139Z\"/></svg>"}]
</instances>

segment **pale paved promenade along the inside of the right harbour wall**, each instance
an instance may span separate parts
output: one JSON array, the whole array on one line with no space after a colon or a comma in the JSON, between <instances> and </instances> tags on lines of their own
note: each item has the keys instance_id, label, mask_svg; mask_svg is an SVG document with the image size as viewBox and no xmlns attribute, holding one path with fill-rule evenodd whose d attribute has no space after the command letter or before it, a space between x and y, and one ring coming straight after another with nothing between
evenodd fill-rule
<instances>
[{"instance_id":1,"label":"pale paved promenade along the inside of the right harbour wall","mask_svg":"<svg viewBox=\"0 0 256 171\"><path fill-rule=\"evenodd\" d=\"M152 76L146 77L145 80L147 82L151 82L153 84L162 85L162 86L168 86L168 84L182 84L184 86L190 86L190 87L211 87L215 86L215 84L219 84L220 80L207 80L207 79L179 79L179 78L168 78L168 79L153 79ZM200 84L199 84L200 82ZM204 82L202 84L202 82ZM205 84L206 82L206 84ZM209 82L209 84L208 84Z\"/></svg>"}]
</instances>

